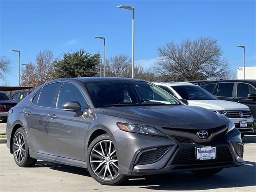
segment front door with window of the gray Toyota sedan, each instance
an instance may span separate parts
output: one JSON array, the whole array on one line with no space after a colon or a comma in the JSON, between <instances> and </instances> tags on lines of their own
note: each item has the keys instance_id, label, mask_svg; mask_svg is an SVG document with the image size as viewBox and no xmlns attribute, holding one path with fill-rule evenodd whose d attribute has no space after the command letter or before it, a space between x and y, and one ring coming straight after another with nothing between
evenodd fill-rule
<instances>
[{"instance_id":1,"label":"front door with window of the gray Toyota sedan","mask_svg":"<svg viewBox=\"0 0 256 192\"><path fill-rule=\"evenodd\" d=\"M82 92L75 84L62 84L56 108L52 110L48 122L50 154L85 161L86 120L83 116L77 116L74 111L62 109L62 105L68 101L78 101L82 110L87 106Z\"/></svg>"}]
</instances>

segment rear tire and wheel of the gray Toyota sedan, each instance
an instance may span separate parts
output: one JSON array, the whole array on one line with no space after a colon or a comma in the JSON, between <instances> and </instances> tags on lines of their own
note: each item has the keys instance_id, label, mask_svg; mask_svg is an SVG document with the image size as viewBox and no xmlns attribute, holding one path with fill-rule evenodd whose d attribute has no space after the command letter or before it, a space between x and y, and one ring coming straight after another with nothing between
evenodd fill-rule
<instances>
[{"instance_id":1,"label":"rear tire and wheel of the gray Toyota sedan","mask_svg":"<svg viewBox=\"0 0 256 192\"><path fill-rule=\"evenodd\" d=\"M28 138L23 128L18 128L14 134L12 151L14 161L19 167L30 167L36 164L37 159L29 156Z\"/></svg>"}]
</instances>

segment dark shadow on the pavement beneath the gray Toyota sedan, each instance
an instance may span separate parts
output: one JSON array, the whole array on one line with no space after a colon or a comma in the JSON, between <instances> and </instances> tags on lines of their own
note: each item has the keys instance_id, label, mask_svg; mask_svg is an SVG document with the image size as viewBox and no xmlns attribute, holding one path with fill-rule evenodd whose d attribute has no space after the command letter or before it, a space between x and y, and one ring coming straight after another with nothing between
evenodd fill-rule
<instances>
[{"instance_id":1,"label":"dark shadow on the pavement beneath the gray Toyota sedan","mask_svg":"<svg viewBox=\"0 0 256 192\"><path fill-rule=\"evenodd\" d=\"M38 161L35 167L46 167L52 170L79 174L91 177L84 168ZM202 177L191 172L174 172L169 174L158 174L150 176L131 177L121 186L138 186L151 190L207 190L218 188L233 188L256 185L256 163L246 161L240 167L226 168L220 173Z\"/></svg>"}]
</instances>

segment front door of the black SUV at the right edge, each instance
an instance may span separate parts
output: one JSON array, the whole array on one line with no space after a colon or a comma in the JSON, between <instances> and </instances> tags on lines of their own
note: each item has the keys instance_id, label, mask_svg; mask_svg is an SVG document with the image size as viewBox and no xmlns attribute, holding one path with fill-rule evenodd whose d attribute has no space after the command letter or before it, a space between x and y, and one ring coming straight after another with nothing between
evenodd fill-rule
<instances>
[{"instance_id":1,"label":"front door of the black SUV at the right edge","mask_svg":"<svg viewBox=\"0 0 256 192\"><path fill-rule=\"evenodd\" d=\"M242 103L250 108L254 118L256 117L256 101L249 99L248 94L256 93L256 88L248 83L237 83L234 102Z\"/></svg>"}]
</instances>

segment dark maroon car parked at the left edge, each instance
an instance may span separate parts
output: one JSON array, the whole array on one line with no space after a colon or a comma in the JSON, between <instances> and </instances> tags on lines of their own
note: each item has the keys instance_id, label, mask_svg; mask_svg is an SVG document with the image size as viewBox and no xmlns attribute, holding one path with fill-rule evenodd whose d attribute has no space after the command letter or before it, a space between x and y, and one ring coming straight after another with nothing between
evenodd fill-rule
<instances>
[{"instance_id":1,"label":"dark maroon car parked at the left edge","mask_svg":"<svg viewBox=\"0 0 256 192\"><path fill-rule=\"evenodd\" d=\"M6 121L10 108L15 106L17 102L13 101L8 95L0 92L0 120Z\"/></svg>"}]
</instances>

